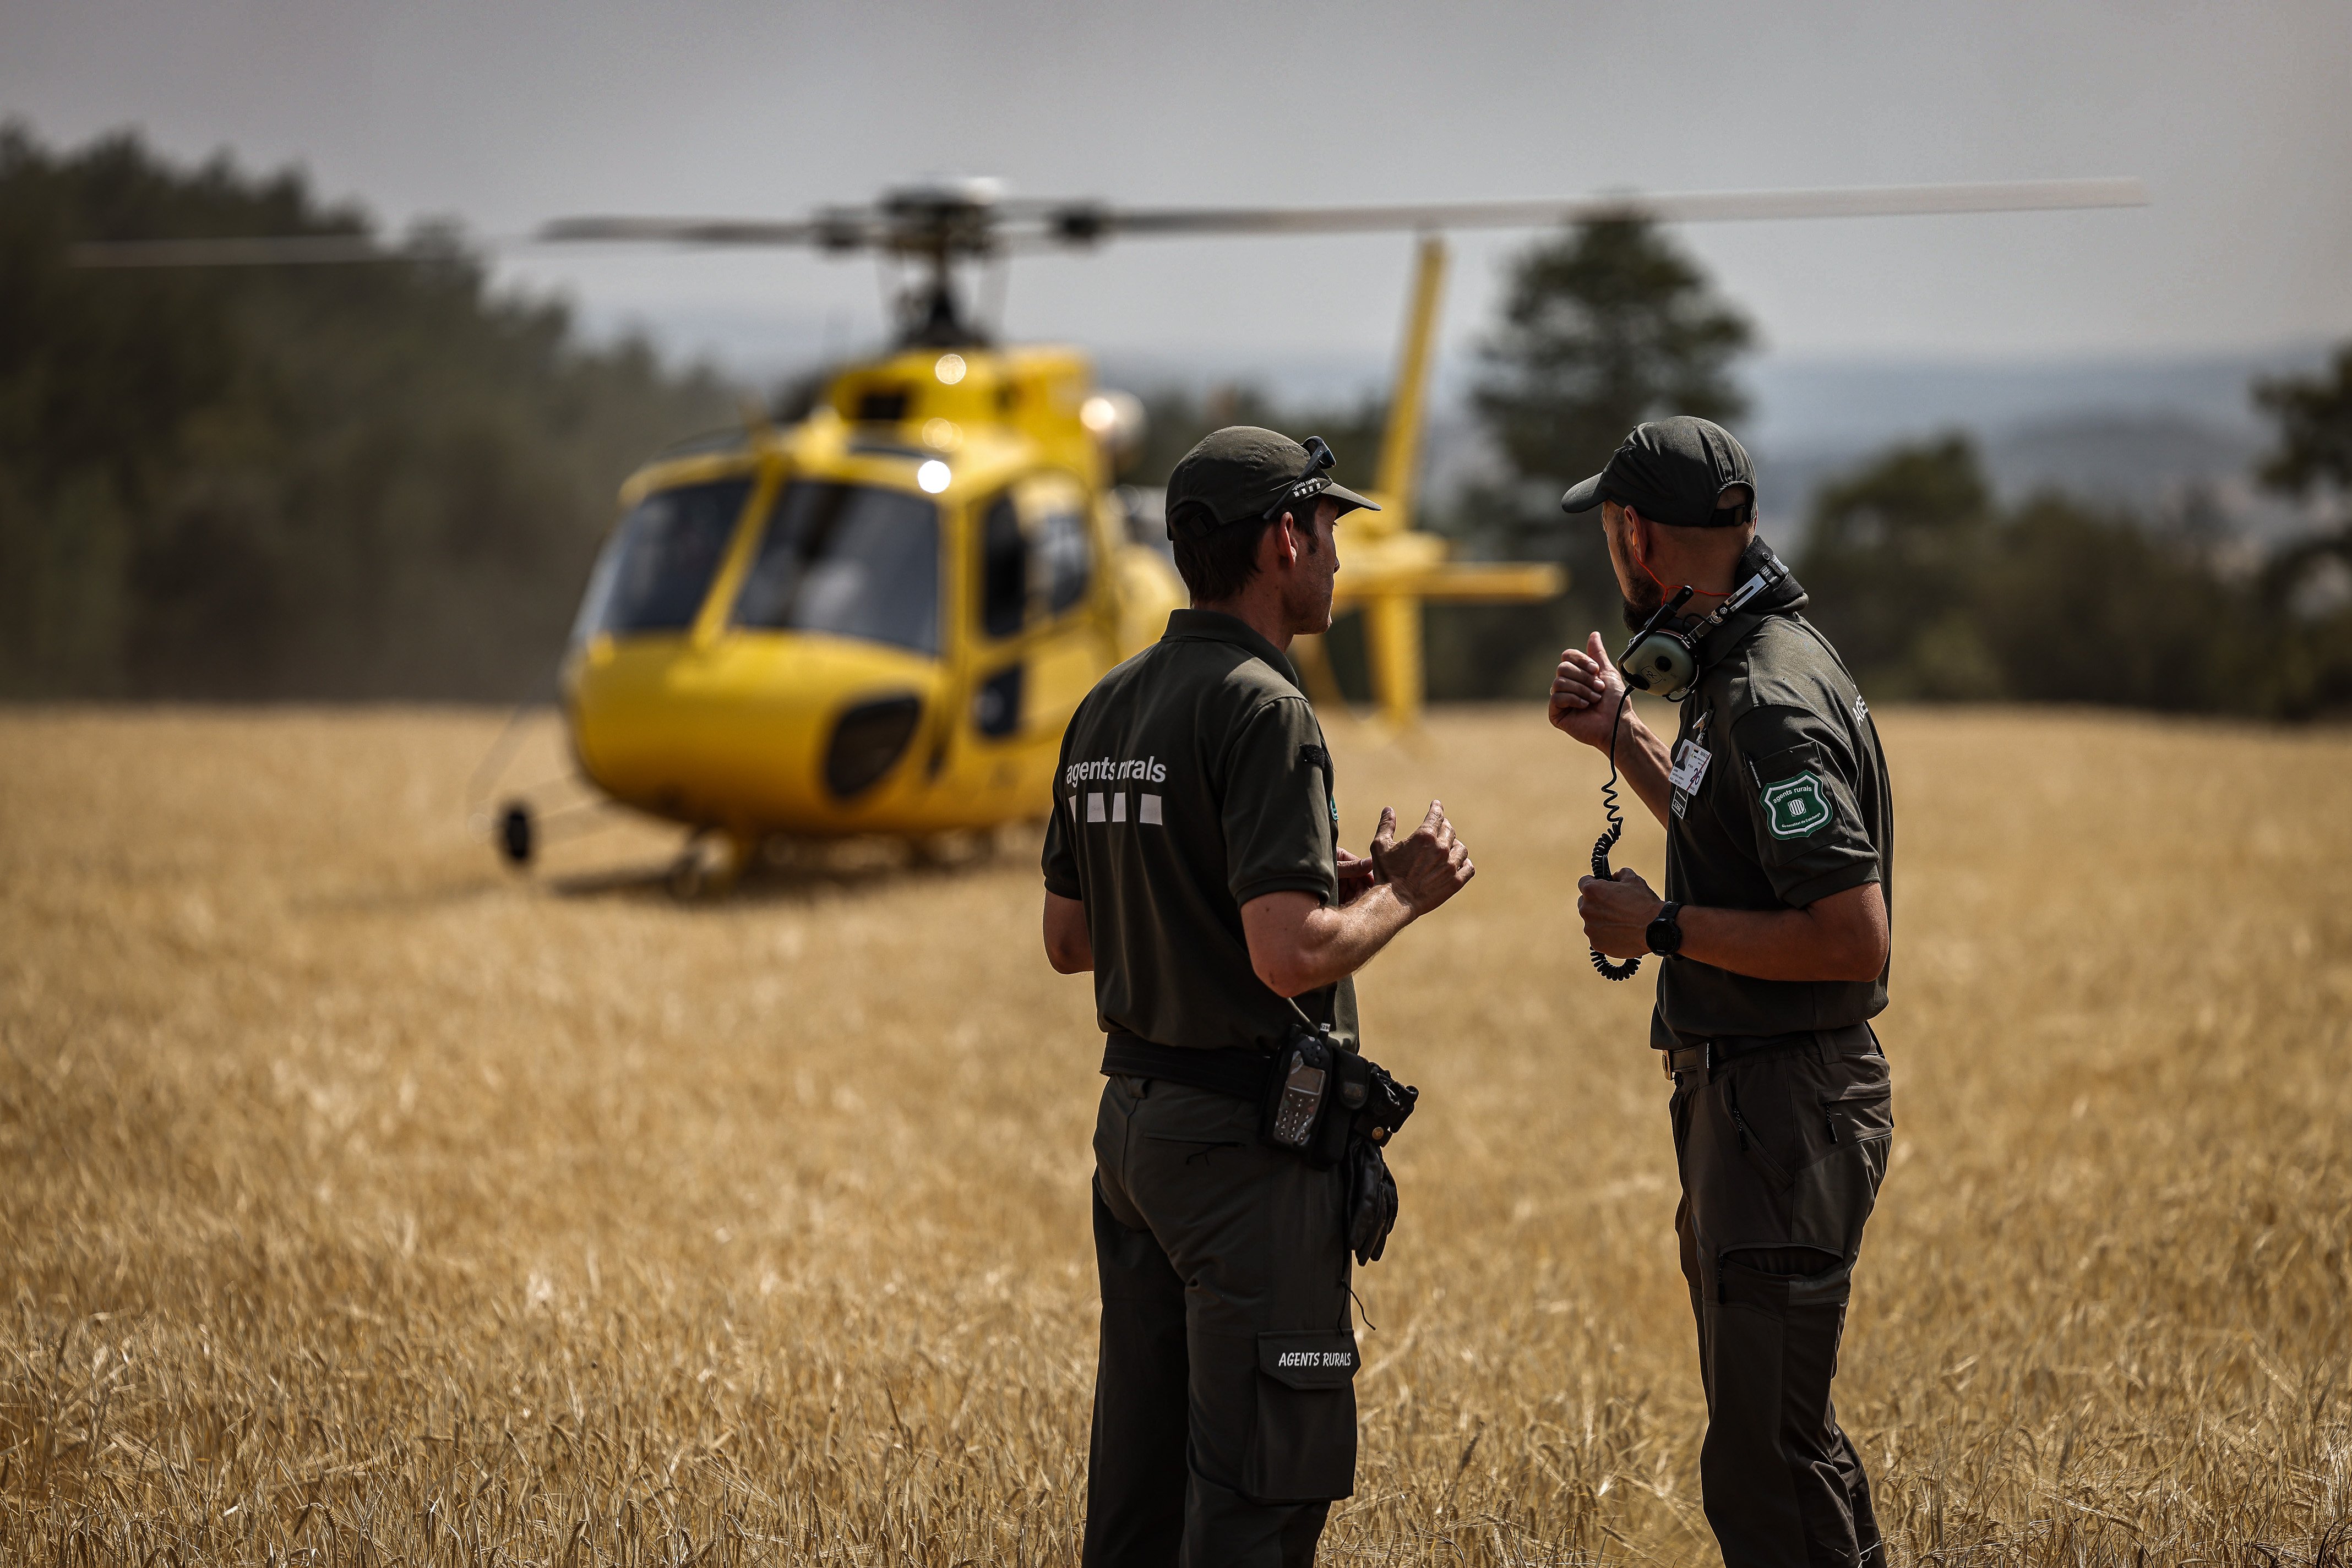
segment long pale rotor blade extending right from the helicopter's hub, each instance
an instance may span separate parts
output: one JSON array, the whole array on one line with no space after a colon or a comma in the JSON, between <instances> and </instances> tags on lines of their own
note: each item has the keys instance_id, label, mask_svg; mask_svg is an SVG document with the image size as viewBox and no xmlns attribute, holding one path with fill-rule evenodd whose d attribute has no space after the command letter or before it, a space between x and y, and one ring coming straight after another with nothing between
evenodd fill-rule
<instances>
[{"instance_id":1,"label":"long pale rotor blade extending right from the helicopter's hub","mask_svg":"<svg viewBox=\"0 0 2352 1568\"><path fill-rule=\"evenodd\" d=\"M1969 186L1830 186L1813 190L1602 193L1538 202L1392 207L1089 207L1051 214L1070 242L1117 235L1336 235L1399 228L1550 228L1592 219L1722 223L1740 219L1879 219L1938 212L2145 207L2138 179L2034 179Z\"/></svg>"}]
</instances>

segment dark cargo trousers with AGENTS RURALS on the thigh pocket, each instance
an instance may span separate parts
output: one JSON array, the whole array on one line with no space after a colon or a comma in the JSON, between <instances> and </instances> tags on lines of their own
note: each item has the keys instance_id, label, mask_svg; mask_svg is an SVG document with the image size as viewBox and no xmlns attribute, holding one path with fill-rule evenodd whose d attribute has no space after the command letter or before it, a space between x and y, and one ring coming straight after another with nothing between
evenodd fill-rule
<instances>
[{"instance_id":1,"label":"dark cargo trousers with AGENTS RURALS on the thigh pocket","mask_svg":"<svg viewBox=\"0 0 2352 1568\"><path fill-rule=\"evenodd\" d=\"M1258 1140L1254 1103L1103 1086L1089 1568L1315 1561L1355 1490L1343 1197L1338 1171Z\"/></svg>"}]
</instances>

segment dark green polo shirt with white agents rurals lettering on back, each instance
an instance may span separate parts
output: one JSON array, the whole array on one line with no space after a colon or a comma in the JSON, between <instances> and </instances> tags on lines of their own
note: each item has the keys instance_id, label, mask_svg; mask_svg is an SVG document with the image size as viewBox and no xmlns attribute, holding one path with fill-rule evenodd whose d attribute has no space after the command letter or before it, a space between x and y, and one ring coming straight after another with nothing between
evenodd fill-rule
<instances>
[{"instance_id":1,"label":"dark green polo shirt with white agents rurals lettering on back","mask_svg":"<svg viewBox=\"0 0 2352 1568\"><path fill-rule=\"evenodd\" d=\"M1298 672L1232 616L1178 609L1070 717L1044 886L1087 905L1105 1034L1272 1051L1298 1023L1355 1044L1355 983L1294 1009L1258 980L1242 905L1338 896L1331 752Z\"/></svg>"}]
</instances>

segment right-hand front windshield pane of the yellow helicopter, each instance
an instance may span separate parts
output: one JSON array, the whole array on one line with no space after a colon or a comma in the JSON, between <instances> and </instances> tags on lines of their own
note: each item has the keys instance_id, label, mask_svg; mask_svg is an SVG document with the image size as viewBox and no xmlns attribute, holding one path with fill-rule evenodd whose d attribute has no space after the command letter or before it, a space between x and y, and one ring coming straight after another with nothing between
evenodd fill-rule
<instances>
[{"instance_id":1,"label":"right-hand front windshield pane of the yellow helicopter","mask_svg":"<svg viewBox=\"0 0 2352 1568\"><path fill-rule=\"evenodd\" d=\"M870 484L793 480L767 515L734 623L938 651L938 508Z\"/></svg>"}]
</instances>

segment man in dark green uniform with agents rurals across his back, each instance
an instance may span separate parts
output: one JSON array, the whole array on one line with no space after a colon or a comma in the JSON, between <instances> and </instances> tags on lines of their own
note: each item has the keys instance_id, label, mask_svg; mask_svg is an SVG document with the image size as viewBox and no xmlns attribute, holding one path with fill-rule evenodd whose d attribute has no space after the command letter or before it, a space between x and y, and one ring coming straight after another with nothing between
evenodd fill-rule
<instances>
[{"instance_id":1,"label":"man in dark green uniform with agents rurals across his back","mask_svg":"<svg viewBox=\"0 0 2352 1568\"><path fill-rule=\"evenodd\" d=\"M1089 1566L1312 1563L1355 1490L1345 1168L1261 1138L1294 1030L1355 1048L1348 980L1472 877L1430 802L1338 849L1331 752L1284 654L1331 625L1341 512L1319 440L1209 435L1169 477L1192 609L1063 736L1044 947L1094 971L1103 1338Z\"/></svg>"}]
</instances>

